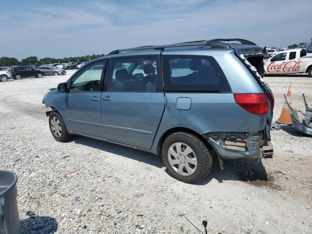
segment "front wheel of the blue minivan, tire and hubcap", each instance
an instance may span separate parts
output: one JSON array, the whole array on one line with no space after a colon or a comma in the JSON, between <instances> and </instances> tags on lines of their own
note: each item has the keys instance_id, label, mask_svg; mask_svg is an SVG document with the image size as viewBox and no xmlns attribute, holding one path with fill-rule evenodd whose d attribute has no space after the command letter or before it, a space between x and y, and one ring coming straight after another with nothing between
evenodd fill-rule
<instances>
[{"instance_id":1,"label":"front wheel of the blue minivan, tire and hubcap","mask_svg":"<svg viewBox=\"0 0 312 234\"><path fill-rule=\"evenodd\" d=\"M67 131L63 118L56 111L50 113L49 127L52 136L59 142L65 142L72 137Z\"/></svg>"}]
</instances>

